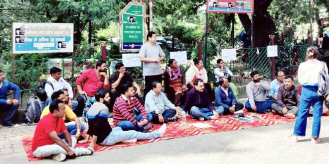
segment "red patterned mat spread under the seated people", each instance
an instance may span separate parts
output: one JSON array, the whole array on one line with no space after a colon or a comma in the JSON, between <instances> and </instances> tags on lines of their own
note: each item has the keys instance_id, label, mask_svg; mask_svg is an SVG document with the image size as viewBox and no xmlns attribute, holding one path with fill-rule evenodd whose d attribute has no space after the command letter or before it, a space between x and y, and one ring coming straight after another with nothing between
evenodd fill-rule
<instances>
[{"instance_id":1,"label":"red patterned mat spread under the seated people","mask_svg":"<svg viewBox=\"0 0 329 164\"><path fill-rule=\"evenodd\" d=\"M248 115L250 113L245 113L245 114ZM174 138L180 138L180 137L188 137L188 136L195 136L195 135L208 134L208 133L226 132L226 131L233 131L233 130L239 130L239 129L252 128L252 127L261 127L261 126L274 125L274 124L295 121L295 119L287 119L287 118L279 116L279 115L272 115L272 113L266 113L266 114L252 113L252 115L261 116L262 119L254 120L254 122L252 122L252 123L245 123L245 122L231 119L231 118L229 118L229 116L220 116L216 120L202 121L202 123L206 123L206 124L213 126L211 128L197 128L197 127L193 126L192 124L200 123L201 121L194 120L194 119L187 117L186 124L182 124L181 122L167 123L167 130L165 131L165 135L162 138L153 139L153 140L137 141L136 143L125 143L125 144L118 143L113 146L97 145L95 147L95 152L101 152L101 151L106 151L106 150L111 150L111 149L154 143L154 142L159 142L159 141L174 139ZM161 125L154 125L153 131L159 129L160 126ZM87 132L87 129L82 134L85 136L86 132ZM32 162L32 161L42 160L42 159L34 158L34 156L33 156L32 139L33 139L33 136L22 136L22 142L23 142L24 150L27 154L28 161ZM89 145L89 143L77 144L76 147L85 147L86 148L86 147L88 147L88 145Z\"/></svg>"}]
</instances>

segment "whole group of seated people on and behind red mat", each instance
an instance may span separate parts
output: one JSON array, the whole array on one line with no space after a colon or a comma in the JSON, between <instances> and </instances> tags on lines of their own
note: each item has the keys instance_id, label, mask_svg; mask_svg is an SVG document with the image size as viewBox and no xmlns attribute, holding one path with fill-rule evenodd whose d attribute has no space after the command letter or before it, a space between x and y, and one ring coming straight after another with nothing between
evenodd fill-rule
<instances>
[{"instance_id":1,"label":"whole group of seated people on and behind red mat","mask_svg":"<svg viewBox=\"0 0 329 164\"><path fill-rule=\"evenodd\" d=\"M230 82L232 73L222 60L218 60L217 64L214 73L218 88L213 92L207 83L202 60L194 60L194 65L184 76L176 60L170 59L169 67L165 70L165 92L161 81L152 82L152 89L147 93L144 104L139 100L141 88L122 63L116 64L117 72L112 74L110 81L104 61L98 61L95 69L83 72L76 80L80 93L77 101L73 100L72 87L61 78L61 70L52 68L48 78L52 86L46 85L45 89L50 97L35 130L33 155L37 158L51 156L54 160L63 161L66 157L91 155L95 144L110 146L118 142L162 137L165 123L177 121L182 111L200 121L217 119L219 115L242 113L244 107L250 112L265 113L274 109L287 118L296 117L300 91L294 86L292 76L285 76L283 71L279 71L277 79L269 85L260 80L259 72L251 72L252 81L246 86L248 101L244 106L237 102L237 88ZM15 88L11 83L7 86L4 78L1 79L2 74L0 71L0 91L4 89L4 84L9 87L7 89ZM77 117L77 113L81 112L75 111L84 108L87 98L92 99L93 104L87 111L89 128L84 138L81 132L85 126ZM14 106L12 101L11 104ZM111 110L115 128L111 128L108 122ZM163 126L158 131L147 133L153 128L151 122ZM77 142L88 143L90 138L88 148L74 148Z\"/></svg>"}]
</instances>

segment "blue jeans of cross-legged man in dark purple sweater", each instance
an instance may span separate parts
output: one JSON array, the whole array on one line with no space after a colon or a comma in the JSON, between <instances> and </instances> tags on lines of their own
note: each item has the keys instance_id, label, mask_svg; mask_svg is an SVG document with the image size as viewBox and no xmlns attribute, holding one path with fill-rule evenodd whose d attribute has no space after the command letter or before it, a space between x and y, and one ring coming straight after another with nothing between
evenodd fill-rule
<instances>
[{"instance_id":1,"label":"blue jeans of cross-legged man in dark purple sweater","mask_svg":"<svg viewBox=\"0 0 329 164\"><path fill-rule=\"evenodd\" d=\"M223 115L224 108L222 106L216 106L215 111L219 115ZM191 118L193 119L198 119L200 117L203 117L206 120L210 120L210 117L214 115L208 108L198 108L196 106L192 106L189 112L191 114Z\"/></svg>"}]
</instances>

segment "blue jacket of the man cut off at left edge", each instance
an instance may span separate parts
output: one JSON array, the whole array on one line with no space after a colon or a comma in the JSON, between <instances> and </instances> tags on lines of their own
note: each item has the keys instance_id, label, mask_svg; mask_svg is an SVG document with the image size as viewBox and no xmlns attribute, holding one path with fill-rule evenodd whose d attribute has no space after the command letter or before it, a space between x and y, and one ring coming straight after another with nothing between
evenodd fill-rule
<instances>
[{"instance_id":1,"label":"blue jacket of the man cut off at left edge","mask_svg":"<svg viewBox=\"0 0 329 164\"><path fill-rule=\"evenodd\" d=\"M19 87L11 82L3 80L2 86L0 87L0 105L7 104L8 90L13 90L15 92L14 99L19 100L19 95L20 95Z\"/></svg>"}]
</instances>

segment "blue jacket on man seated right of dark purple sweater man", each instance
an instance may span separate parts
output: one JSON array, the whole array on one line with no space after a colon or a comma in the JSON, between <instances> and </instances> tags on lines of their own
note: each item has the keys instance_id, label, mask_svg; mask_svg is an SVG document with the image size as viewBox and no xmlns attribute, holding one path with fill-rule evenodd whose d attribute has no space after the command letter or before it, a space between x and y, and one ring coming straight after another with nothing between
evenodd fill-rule
<instances>
[{"instance_id":1,"label":"blue jacket on man seated right of dark purple sweater man","mask_svg":"<svg viewBox=\"0 0 329 164\"><path fill-rule=\"evenodd\" d=\"M228 96L226 97L226 94L223 91L222 87L219 86L215 92L215 97L216 97L216 105L222 106L225 109L228 109L230 108L230 106L236 104L236 100L231 87L228 87Z\"/></svg>"}]
</instances>

